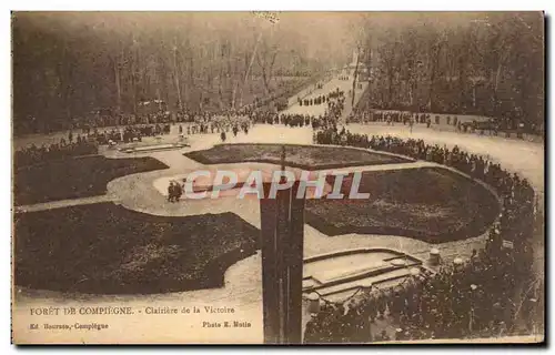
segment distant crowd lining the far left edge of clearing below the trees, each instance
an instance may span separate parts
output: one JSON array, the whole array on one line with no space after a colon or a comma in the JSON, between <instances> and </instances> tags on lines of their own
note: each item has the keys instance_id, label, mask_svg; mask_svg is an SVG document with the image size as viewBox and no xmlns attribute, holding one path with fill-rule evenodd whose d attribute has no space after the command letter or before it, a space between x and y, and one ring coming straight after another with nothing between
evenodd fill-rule
<instances>
[{"instance_id":1,"label":"distant crowd lining the far left edge of clearing below the trees","mask_svg":"<svg viewBox=\"0 0 555 355\"><path fill-rule=\"evenodd\" d=\"M327 126L336 123L337 118L343 110L343 92L339 89L332 91L329 95L322 97L329 104L326 113L322 116L275 113L273 111L262 110L225 110L216 113L204 112L186 116L188 123L178 124L180 135L219 133L222 141L225 141L228 134L236 136L239 132L249 133L254 123L285 124L289 126L312 125L313 129ZM317 102L317 100L316 100ZM191 122L192 119L192 122ZM61 139L59 143L51 145L36 145L18 150L14 155L17 164L29 165L37 162L43 162L52 159L68 156L79 156L88 154L98 154L98 145L118 144L142 141L144 136L158 136L169 134L171 130L170 118L164 115L149 115L149 121L158 123L137 123L131 118L110 116L108 113L97 115L89 124L78 124L80 133L73 141L73 131L70 131L68 139ZM127 123L127 125L118 125ZM105 130L101 126L115 125Z\"/></svg>"}]
</instances>

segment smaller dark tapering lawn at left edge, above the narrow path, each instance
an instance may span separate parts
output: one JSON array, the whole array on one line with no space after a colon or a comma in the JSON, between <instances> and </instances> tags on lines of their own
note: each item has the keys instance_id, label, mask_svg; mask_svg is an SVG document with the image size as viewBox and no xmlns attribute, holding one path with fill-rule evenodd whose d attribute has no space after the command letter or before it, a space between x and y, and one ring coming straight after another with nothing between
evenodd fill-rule
<instances>
[{"instance_id":1,"label":"smaller dark tapering lawn at left edge, above the narrow path","mask_svg":"<svg viewBox=\"0 0 555 355\"><path fill-rule=\"evenodd\" d=\"M168 169L153 158L71 158L20 168L13 173L16 205L90 197L107 192L113 179Z\"/></svg>"}]
</instances>

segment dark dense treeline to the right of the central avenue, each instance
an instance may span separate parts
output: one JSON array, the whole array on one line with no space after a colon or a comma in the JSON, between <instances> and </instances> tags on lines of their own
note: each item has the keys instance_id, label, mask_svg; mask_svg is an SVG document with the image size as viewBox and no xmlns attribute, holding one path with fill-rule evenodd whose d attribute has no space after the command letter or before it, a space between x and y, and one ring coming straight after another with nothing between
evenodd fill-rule
<instances>
[{"instance_id":1,"label":"dark dense treeline to the right of the central avenue","mask_svg":"<svg viewBox=\"0 0 555 355\"><path fill-rule=\"evenodd\" d=\"M364 27L370 106L543 123L542 13L370 13Z\"/></svg>"}]
</instances>

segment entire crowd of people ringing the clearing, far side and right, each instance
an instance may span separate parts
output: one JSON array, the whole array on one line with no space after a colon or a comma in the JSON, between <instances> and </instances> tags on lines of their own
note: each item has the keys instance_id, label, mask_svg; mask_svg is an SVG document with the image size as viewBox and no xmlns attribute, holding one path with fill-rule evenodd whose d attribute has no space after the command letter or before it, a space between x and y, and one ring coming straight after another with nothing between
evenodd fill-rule
<instances>
[{"instance_id":1,"label":"entire crowd of people ringing the clearing, far side and right","mask_svg":"<svg viewBox=\"0 0 555 355\"><path fill-rule=\"evenodd\" d=\"M349 77L340 77L349 80ZM322 87L319 87L322 89ZM532 237L537 226L538 209L535 193L526 179L512 174L487 158L454 148L427 144L423 140L394 136L369 136L337 128L337 119L344 109L344 93L339 88L327 95L299 99L300 105L327 104L322 116L285 114L274 111L251 110L219 113L178 113L178 122L191 122L186 129L179 124L180 134L226 133L245 134L254 123L312 126L313 141L319 144L339 144L385 151L417 160L452 166L492 186L502 200L502 211L491 227L486 247L474 251L462 265L444 264L436 273L408 276L393 288L364 293L345 303L322 305L313 314L304 334L305 343L366 343L389 339L464 338L507 335L516 329L533 332L542 328L544 310L543 281L532 274ZM434 123L440 124L440 115ZM460 131L476 130L476 124L463 124L456 115L445 118ZM114 119L99 115L97 121L79 125L82 134L68 134L59 143L30 145L14 152L17 168L50 160L98 154L99 144L132 142L143 136L170 132L168 114L147 115L148 123L134 118ZM347 122L386 122L432 124L428 113L408 111L355 112ZM99 126L121 125L103 132ZM183 187L178 182L168 186L168 201L178 202ZM521 292L521 294L517 294ZM396 327L390 334L376 325L386 320Z\"/></svg>"}]
</instances>

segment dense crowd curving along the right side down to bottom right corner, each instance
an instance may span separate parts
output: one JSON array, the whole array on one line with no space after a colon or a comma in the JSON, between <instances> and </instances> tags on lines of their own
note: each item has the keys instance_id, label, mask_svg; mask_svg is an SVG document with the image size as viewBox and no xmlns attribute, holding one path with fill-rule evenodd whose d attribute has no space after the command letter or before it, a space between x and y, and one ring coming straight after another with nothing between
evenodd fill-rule
<instances>
[{"instance_id":1,"label":"dense crowd curving along the right side down to bottom right corner","mask_svg":"<svg viewBox=\"0 0 555 355\"><path fill-rule=\"evenodd\" d=\"M532 237L541 216L526 179L457 146L422 140L369 138L336 126L316 131L314 140L455 168L492 186L502 200L502 211L482 252L473 251L461 265L444 264L433 275L410 276L398 286L374 290L357 301L325 304L306 325L306 343L492 337L543 327L544 284L532 272ZM376 318L384 317L396 327L394 335L375 325Z\"/></svg>"}]
</instances>

